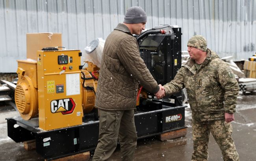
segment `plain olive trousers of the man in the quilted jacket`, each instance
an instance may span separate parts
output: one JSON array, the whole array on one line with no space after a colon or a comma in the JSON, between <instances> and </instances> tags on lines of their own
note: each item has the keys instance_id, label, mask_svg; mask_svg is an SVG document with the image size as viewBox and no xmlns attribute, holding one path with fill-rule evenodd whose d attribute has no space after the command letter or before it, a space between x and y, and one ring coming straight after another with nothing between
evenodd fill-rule
<instances>
[{"instance_id":1,"label":"plain olive trousers of the man in the quilted jacket","mask_svg":"<svg viewBox=\"0 0 256 161\"><path fill-rule=\"evenodd\" d=\"M137 146L134 110L98 110L100 131L93 161L107 160L115 151L117 139L121 145L121 159L132 161Z\"/></svg>"}]
</instances>

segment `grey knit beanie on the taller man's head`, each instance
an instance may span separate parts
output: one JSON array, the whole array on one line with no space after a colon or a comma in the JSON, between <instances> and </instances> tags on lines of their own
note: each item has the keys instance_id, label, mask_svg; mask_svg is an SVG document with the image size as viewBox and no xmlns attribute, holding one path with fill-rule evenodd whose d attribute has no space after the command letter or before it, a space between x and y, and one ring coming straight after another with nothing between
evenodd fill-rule
<instances>
[{"instance_id":1,"label":"grey knit beanie on the taller man's head","mask_svg":"<svg viewBox=\"0 0 256 161\"><path fill-rule=\"evenodd\" d=\"M137 24L141 22L147 22L147 14L138 6L130 7L124 17L124 23Z\"/></svg>"}]
</instances>

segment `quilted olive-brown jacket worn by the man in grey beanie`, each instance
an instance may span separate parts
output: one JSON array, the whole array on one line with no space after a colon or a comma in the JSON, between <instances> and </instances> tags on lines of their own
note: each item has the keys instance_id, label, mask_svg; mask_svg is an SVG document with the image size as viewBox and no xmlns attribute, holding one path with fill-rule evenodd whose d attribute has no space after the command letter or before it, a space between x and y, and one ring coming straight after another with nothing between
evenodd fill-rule
<instances>
[{"instance_id":1,"label":"quilted olive-brown jacket worn by the man in grey beanie","mask_svg":"<svg viewBox=\"0 0 256 161\"><path fill-rule=\"evenodd\" d=\"M136 107L138 85L156 93L159 86L139 54L136 39L124 24L112 31L102 53L96 108L131 110Z\"/></svg>"}]
</instances>

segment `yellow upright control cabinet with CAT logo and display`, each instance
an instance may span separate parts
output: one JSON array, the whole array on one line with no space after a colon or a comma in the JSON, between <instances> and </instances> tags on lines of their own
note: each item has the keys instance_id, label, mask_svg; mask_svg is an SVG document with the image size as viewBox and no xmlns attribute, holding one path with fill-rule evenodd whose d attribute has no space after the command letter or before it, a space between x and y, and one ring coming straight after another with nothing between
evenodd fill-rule
<instances>
[{"instance_id":1,"label":"yellow upright control cabinet with CAT logo and display","mask_svg":"<svg viewBox=\"0 0 256 161\"><path fill-rule=\"evenodd\" d=\"M80 50L37 51L39 128L82 124Z\"/></svg>"}]
</instances>

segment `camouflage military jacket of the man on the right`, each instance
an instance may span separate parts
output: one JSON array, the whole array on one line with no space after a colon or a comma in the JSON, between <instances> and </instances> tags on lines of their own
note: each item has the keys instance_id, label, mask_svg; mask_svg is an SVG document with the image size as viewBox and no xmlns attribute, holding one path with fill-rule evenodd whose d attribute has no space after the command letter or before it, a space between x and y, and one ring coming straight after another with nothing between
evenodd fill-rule
<instances>
[{"instance_id":1,"label":"camouflage military jacket of the man on the right","mask_svg":"<svg viewBox=\"0 0 256 161\"><path fill-rule=\"evenodd\" d=\"M174 80L164 85L166 95L187 89L192 118L197 121L224 119L224 112L236 112L238 83L228 64L207 49L207 57L198 71L189 59Z\"/></svg>"}]
</instances>

